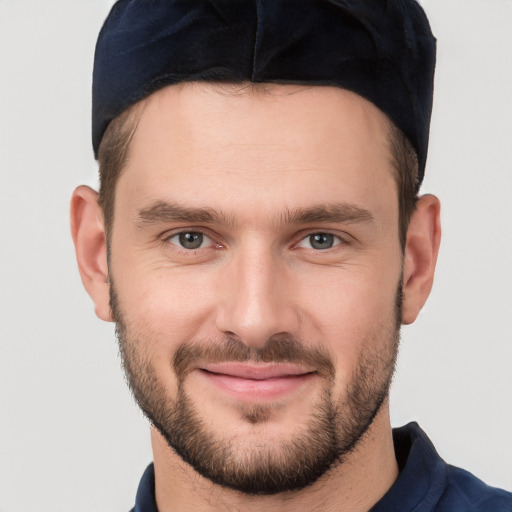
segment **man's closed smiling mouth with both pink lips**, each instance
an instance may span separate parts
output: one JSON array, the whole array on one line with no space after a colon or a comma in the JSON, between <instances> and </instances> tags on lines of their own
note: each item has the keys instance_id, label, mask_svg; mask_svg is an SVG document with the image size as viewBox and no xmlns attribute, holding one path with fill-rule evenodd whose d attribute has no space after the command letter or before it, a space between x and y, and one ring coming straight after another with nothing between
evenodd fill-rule
<instances>
[{"instance_id":1,"label":"man's closed smiling mouth with both pink lips","mask_svg":"<svg viewBox=\"0 0 512 512\"><path fill-rule=\"evenodd\" d=\"M250 402L283 398L316 377L314 370L287 363L216 363L198 370L219 391Z\"/></svg>"}]
</instances>

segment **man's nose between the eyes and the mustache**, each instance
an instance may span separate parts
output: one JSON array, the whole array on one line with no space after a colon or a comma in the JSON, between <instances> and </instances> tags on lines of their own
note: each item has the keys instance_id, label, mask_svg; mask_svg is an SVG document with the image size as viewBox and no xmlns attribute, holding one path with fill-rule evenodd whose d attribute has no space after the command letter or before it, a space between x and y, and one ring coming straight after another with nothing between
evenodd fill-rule
<instances>
[{"instance_id":1,"label":"man's nose between the eyes and the mustache","mask_svg":"<svg viewBox=\"0 0 512 512\"><path fill-rule=\"evenodd\" d=\"M277 334L296 335L299 310L293 277L284 262L264 248L239 251L219 283L217 329L245 345L261 348Z\"/></svg>"}]
</instances>

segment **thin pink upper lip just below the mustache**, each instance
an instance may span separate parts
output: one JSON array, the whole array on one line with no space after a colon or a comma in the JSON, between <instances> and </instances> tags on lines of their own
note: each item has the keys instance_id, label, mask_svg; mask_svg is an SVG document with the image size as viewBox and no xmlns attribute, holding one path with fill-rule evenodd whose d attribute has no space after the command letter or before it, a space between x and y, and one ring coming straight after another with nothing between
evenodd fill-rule
<instances>
[{"instance_id":1,"label":"thin pink upper lip just below the mustache","mask_svg":"<svg viewBox=\"0 0 512 512\"><path fill-rule=\"evenodd\" d=\"M291 363L240 363L224 362L211 363L200 367L211 373L238 377L241 379L276 379L291 376L306 375L314 370Z\"/></svg>"}]
</instances>

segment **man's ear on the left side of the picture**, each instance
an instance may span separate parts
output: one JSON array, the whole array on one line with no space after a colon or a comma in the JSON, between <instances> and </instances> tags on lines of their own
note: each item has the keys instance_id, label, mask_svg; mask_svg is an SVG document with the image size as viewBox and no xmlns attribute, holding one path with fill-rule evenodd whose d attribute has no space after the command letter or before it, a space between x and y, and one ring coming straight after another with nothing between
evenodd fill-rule
<instances>
[{"instance_id":1,"label":"man's ear on the left side of the picture","mask_svg":"<svg viewBox=\"0 0 512 512\"><path fill-rule=\"evenodd\" d=\"M82 283L94 302L96 315L112 321L108 284L107 241L98 193L81 186L71 199L71 235Z\"/></svg>"}]
</instances>

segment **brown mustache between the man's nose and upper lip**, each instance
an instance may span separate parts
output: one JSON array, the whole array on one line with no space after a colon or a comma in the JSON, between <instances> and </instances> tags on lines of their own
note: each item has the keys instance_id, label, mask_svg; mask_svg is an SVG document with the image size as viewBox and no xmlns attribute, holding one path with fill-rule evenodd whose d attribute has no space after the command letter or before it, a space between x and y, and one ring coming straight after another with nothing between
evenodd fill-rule
<instances>
[{"instance_id":1,"label":"brown mustache between the man's nose and upper lip","mask_svg":"<svg viewBox=\"0 0 512 512\"><path fill-rule=\"evenodd\" d=\"M221 341L190 341L182 344L173 357L173 367L179 380L198 363L221 362L292 363L315 368L322 377L334 378L335 365L322 346L306 346L290 335L274 335L261 348L248 347L236 338Z\"/></svg>"}]
</instances>

